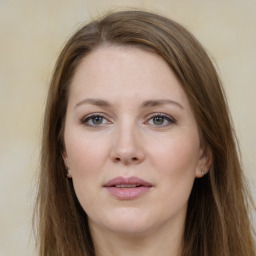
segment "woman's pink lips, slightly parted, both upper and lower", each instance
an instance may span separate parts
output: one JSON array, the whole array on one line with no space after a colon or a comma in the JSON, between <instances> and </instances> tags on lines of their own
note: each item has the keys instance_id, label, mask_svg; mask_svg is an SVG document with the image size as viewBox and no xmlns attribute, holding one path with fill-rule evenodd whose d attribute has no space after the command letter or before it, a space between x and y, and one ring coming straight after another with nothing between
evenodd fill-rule
<instances>
[{"instance_id":1,"label":"woman's pink lips, slightly parted, both upper and lower","mask_svg":"<svg viewBox=\"0 0 256 256\"><path fill-rule=\"evenodd\" d=\"M116 177L104 187L117 199L131 200L148 192L153 185L137 177Z\"/></svg>"}]
</instances>

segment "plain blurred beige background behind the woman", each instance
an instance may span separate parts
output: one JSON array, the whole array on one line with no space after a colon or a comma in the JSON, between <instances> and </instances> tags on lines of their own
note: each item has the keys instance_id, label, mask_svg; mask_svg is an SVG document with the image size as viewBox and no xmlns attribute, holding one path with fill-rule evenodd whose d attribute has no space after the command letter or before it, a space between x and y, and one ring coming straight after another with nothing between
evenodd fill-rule
<instances>
[{"instance_id":1,"label":"plain blurred beige background behind the woman","mask_svg":"<svg viewBox=\"0 0 256 256\"><path fill-rule=\"evenodd\" d=\"M60 48L90 17L119 7L174 18L214 56L255 193L255 0L0 0L0 256L35 255L31 214L39 138Z\"/></svg>"}]
</instances>

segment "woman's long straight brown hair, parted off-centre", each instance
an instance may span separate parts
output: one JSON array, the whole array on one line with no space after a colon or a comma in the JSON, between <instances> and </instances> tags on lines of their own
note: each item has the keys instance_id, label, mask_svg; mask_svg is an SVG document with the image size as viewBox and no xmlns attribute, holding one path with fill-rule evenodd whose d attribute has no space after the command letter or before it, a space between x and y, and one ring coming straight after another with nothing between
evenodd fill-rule
<instances>
[{"instance_id":1,"label":"woman's long straight brown hair, parted off-centre","mask_svg":"<svg viewBox=\"0 0 256 256\"><path fill-rule=\"evenodd\" d=\"M69 86L77 66L102 45L139 47L159 54L183 85L201 137L213 153L209 173L195 179L188 202L183 256L255 256L251 197L221 82L200 43L176 22L143 11L104 16L66 43L54 70L46 104L41 173L35 210L40 256L92 256L86 213L65 175L62 152Z\"/></svg>"}]
</instances>

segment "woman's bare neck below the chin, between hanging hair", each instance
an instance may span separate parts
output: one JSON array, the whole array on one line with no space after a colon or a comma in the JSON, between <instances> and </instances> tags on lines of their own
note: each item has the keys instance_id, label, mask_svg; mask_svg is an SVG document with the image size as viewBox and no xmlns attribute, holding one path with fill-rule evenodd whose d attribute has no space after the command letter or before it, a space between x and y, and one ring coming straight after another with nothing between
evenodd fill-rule
<instances>
[{"instance_id":1,"label":"woman's bare neck below the chin, between hanging hair","mask_svg":"<svg viewBox=\"0 0 256 256\"><path fill-rule=\"evenodd\" d=\"M142 234L102 232L91 228L96 256L180 256L183 228L163 225L157 230Z\"/></svg>"}]
</instances>

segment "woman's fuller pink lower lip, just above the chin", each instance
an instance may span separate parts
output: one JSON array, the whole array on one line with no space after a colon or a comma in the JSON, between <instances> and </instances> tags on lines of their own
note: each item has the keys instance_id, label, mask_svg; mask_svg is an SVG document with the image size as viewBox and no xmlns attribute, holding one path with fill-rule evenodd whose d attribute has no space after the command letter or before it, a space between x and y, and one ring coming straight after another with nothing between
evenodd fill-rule
<instances>
[{"instance_id":1,"label":"woman's fuller pink lower lip, just above the chin","mask_svg":"<svg viewBox=\"0 0 256 256\"><path fill-rule=\"evenodd\" d=\"M117 187L106 187L108 192L117 199L120 200L131 200L142 196L147 193L151 187L136 187L136 188L117 188Z\"/></svg>"}]
</instances>

